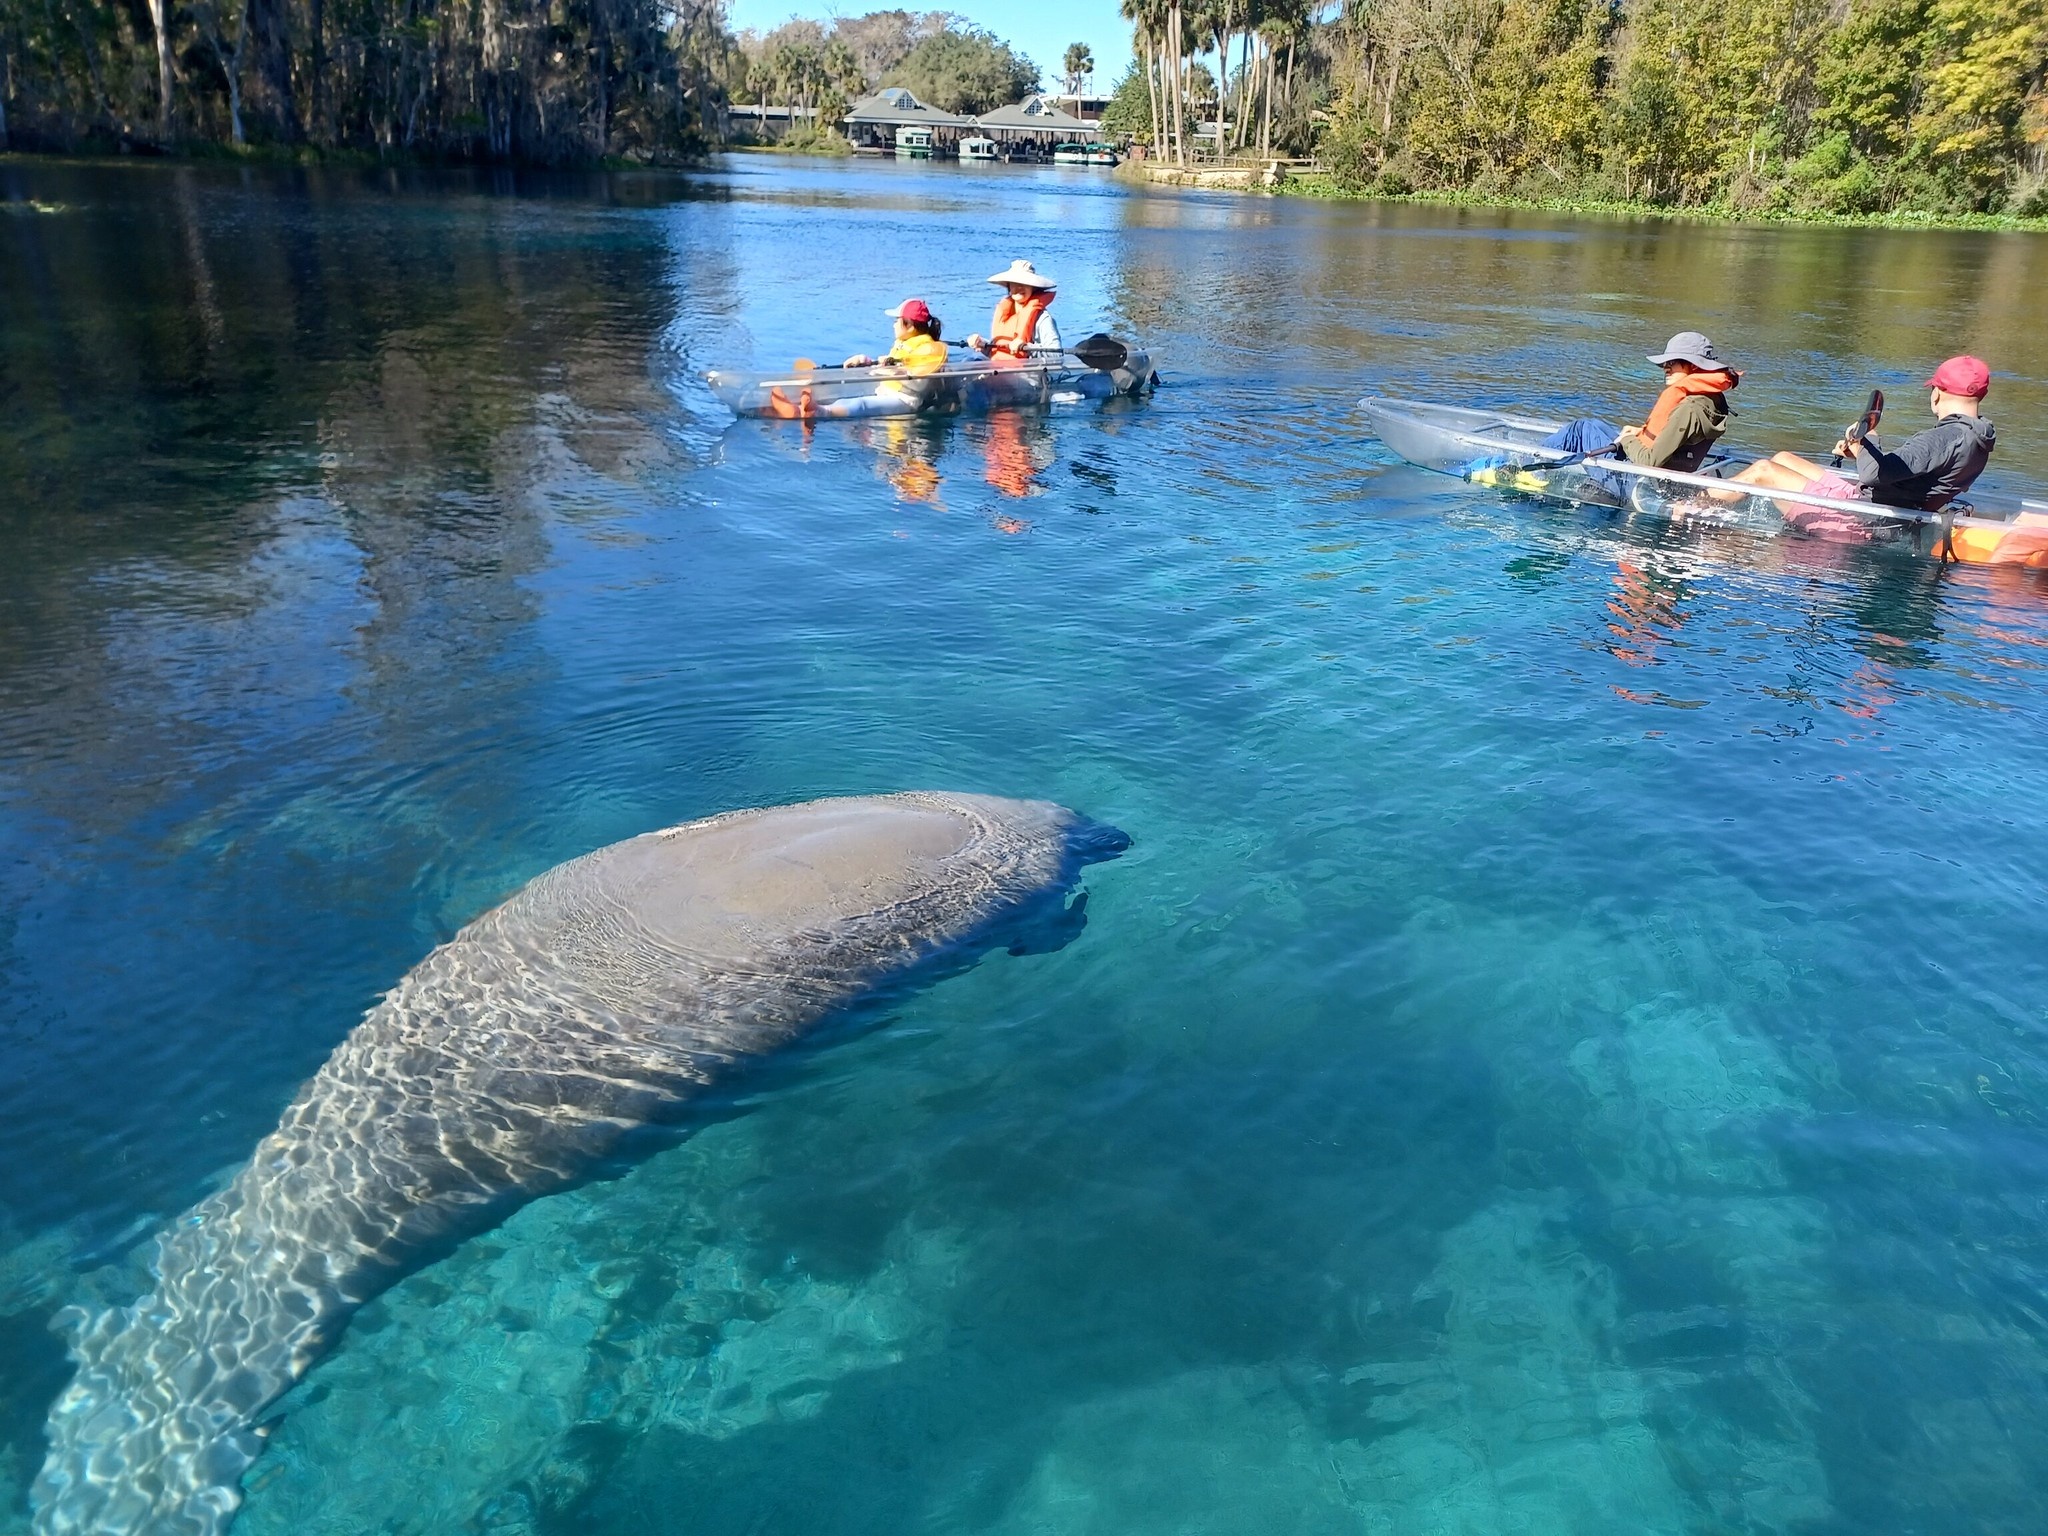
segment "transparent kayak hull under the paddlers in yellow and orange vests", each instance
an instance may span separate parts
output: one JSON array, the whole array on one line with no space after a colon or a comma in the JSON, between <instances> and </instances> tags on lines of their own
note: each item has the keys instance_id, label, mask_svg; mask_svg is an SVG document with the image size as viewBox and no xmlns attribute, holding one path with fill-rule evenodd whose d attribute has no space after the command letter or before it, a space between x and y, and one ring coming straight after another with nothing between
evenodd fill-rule
<instances>
[{"instance_id":1,"label":"transparent kayak hull under the paddlers in yellow and orange vests","mask_svg":"<svg viewBox=\"0 0 2048 1536\"><path fill-rule=\"evenodd\" d=\"M1151 358L1130 350L1122 367L1090 369L1071 354L1028 362L969 358L915 379L877 369L717 369L705 381L735 416L799 422L864 416L977 416L1137 395L1151 385Z\"/></svg>"}]
</instances>

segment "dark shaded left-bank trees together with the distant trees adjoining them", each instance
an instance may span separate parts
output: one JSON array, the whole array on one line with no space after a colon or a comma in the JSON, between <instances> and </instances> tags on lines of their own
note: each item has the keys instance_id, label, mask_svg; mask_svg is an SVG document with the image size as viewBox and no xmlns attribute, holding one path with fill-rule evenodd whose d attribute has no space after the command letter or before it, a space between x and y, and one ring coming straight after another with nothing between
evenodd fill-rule
<instances>
[{"instance_id":1,"label":"dark shaded left-bank trees together with the distant trees adjoining them","mask_svg":"<svg viewBox=\"0 0 2048 1536\"><path fill-rule=\"evenodd\" d=\"M985 111L1038 70L948 12L762 37L721 0L0 0L0 147L678 160L727 137L729 102L829 125L881 84Z\"/></svg>"}]
</instances>

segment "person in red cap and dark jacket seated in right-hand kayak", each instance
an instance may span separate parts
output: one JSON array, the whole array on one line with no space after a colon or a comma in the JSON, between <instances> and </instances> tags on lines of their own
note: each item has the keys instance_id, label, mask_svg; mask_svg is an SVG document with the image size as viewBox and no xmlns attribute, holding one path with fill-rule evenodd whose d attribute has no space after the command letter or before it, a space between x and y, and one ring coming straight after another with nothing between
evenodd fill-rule
<instances>
[{"instance_id":1,"label":"person in red cap and dark jacket seated in right-hand kayak","mask_svg":"<svg viewBox=\"0 0 2048 1536\"><path fill-rule=\"evenodd\" d=\"M1997 446L1997 430L1985 416L1991 369L1982 358L1952 356L1933 371L1927 391L1933 426L1896 449L1886 449L1870 434L1853 442L1845 434L1835 444L1835 457L1845 461L1841 469L1823 469L1796 453L1776 453L1735 479L1774 492L1831 496L1837 502L1939 512L1970 489Z\"/></svg>"}]
</instances>

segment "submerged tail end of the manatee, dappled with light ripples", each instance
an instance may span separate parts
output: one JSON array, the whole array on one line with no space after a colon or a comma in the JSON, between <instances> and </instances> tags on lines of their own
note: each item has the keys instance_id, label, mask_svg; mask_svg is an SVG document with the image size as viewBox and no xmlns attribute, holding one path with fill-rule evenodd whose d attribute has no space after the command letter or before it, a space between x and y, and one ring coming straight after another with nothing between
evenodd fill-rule
<instances>
[{"instance_id":1,"label":"submerged tail end of the manatee, dappled with light ripples","mask_svg":"<svg viewBox=\"0 0 2048 1536\"><path fill-rule=\"evenodd\" d=\"M158 1288L133 1307L59 1319L78 1374L49 1415L37 1536L225 1532L262 1450L256 1417L350 1311L307 1282L317 1255L250 1229L240 1188L164 1233L156 1268Z\"/></svg>"}]
</instances>

